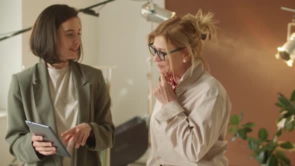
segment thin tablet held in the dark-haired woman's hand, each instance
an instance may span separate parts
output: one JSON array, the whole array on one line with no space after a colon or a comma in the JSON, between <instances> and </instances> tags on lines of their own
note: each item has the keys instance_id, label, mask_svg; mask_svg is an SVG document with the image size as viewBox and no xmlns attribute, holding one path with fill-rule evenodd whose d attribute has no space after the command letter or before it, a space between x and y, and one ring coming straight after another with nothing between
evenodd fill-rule
<instances>
[{"instance_id":1,"label":"thin tablet held in the dark-haired woman's hand","mask_svg":"<svg viewBox=\"0 0 295 166\"><path fill-rule=\"evenodd\" d=\"M56 147L56 153L65 157L70 157L70 154L63 146L61 141L58 139L58 136L54 133L50 126L39 124L31 121L25 120L25 123L28 125L30 131L35 135L43 136L43 140L46 142L52 142L53 146Z\"/></svg>"}]
</instances>

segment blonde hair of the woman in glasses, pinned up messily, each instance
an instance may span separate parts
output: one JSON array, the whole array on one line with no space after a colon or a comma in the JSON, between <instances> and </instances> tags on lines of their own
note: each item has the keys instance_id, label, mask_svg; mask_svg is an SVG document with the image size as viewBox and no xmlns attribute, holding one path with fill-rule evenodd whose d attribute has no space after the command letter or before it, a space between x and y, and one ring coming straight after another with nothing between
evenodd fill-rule
<instances>
[{"instance_id":1,"label":"blonde hair of the woman in glasses, pinned up messily","mask_svg":"<svg viewBox=\"0 0 295 166\"><path fill-rule=\"evenodd\" d=\"M199 58L205 63L207 70L209 70L208 64L200 57L199 53L204 44L203 40L211 40L211 38L216 35L217 27L215 24L218 21L212 19L213 15L212 12L203 14L201 9L199 9L196 15L187 14L182 18L173 16L161 22L156 29L150 32L147 35L147 41L151 43L155 36L163 36L170 65L172 64L171 55L169 50L167 50L167 43L173 44L176 48L187 48L192 65L191 69L194 68L194 61Z\"/></svg>"}]
</instances>

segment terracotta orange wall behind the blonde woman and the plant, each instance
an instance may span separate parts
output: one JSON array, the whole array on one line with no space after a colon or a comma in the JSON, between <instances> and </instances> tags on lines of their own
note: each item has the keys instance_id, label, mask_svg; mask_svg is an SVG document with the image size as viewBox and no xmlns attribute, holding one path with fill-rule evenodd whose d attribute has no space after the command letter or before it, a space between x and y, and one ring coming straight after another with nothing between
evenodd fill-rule
<instances>
[{"instance_id":1,"label":"terracotta orange wall behind the blonde woman and the plant","mask_svg":"<svg viewBox=\"0 0 295 166\"><path fill-rule=\"evenodd\" d=\"M290 96L295 89L295 67L274 57L286 40L292 13L280 6L295 8L295 0L166 0L166 8L182 16L198 8L212 11L219 20L215 42L206 43L202 55L211 74L225 87L232 103L231 114L244 112L242 122L256 123L251 136L265 127L269 137L276 131L279 108L277 92ZM293 28L295 32L295 28ZM295 131L283 133L281 140L295 142ZM232 142L227 135L229 165L258 165L248 160L247 142ZM295 165L295 152L287 153Z\"/></svg>"}]
</instances>

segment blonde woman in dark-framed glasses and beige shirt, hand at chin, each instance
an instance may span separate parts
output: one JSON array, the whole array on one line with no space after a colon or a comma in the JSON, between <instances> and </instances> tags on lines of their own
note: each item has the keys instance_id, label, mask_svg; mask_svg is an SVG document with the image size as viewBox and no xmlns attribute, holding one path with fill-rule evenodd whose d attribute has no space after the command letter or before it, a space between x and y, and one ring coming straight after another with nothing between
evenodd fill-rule
<instances>
[{"instance_id":1,"label":"blonde woman in dark-framed glasses and beige shirt, hand at chin","mask_svg":"<svg viewBox=\"0 0 295 166\"><path fill-rule=\"evenodd\" d=\"M223 86L203 67L203 40L216 33L211 12L174 16L148 36L160 73L150 120L147 165L227 165L226 126L231 104Z\"/></svg>"}]
</instances>

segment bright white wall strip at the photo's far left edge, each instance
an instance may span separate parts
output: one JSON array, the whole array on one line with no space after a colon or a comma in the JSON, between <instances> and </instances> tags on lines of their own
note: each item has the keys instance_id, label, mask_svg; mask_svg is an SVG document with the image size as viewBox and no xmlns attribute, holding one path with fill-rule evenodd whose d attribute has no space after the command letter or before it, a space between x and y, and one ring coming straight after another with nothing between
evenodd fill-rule
<instances>
[{"instance_id":1,"label":"bright white wall strip at the photo's far left edge","mask_svg":"<svg viewBox=\"0 0 295 166\"><path fill-rule=\"evenodd\" d=\"M0 1L0 37L2 33L20 30L21 0ZM21 70L21 35L0 41L0 165L8 165L12 156L4 137L7 130L3 111L7 108L8 87L12 73Z\"/></svg>"}]
</instances>

